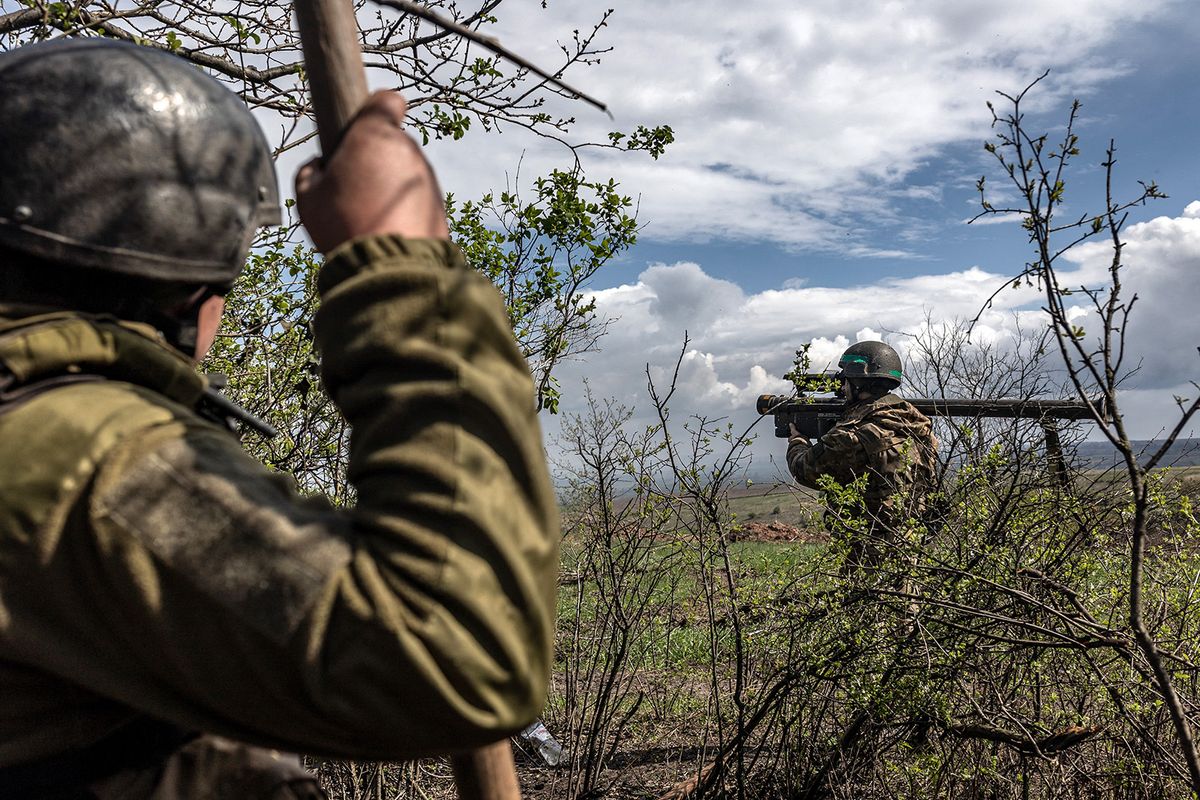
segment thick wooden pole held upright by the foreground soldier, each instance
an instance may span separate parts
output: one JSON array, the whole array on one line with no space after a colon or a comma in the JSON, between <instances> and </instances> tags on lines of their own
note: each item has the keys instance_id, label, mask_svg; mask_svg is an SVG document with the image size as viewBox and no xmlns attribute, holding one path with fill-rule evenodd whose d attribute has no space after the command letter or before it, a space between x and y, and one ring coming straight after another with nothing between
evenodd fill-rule
<instances>
[{"instance_id":1,"label":"thick wooden pole held upright by the foreground soldier","mask_svg":"<svg viewBox=\"0 0 1200 800\"><path fill-rule=\"evenodd\" d=\"M295 14L320 150L329 156L368 94L354 6L350 0L295 0ZM508 740L454 756L451 763L462 800L520 800Z\"/></svg>"}]
</instances>

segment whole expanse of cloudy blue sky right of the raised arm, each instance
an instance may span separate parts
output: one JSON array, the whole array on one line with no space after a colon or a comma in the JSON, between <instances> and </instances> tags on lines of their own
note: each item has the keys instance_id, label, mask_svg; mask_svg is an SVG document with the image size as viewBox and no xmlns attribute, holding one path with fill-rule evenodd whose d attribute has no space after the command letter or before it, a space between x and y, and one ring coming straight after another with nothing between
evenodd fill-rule
<instances>
[{"instance_id":1,"label":"whole expanse of cloudy blue sky right of the raised arm","mask_svg":"<svg viewBox=\"0 0 1200 800\"><path fill-rule=\"evenodd\" d=\"M643 367L672 366L684 330L689 408L677 413L740 422L754 396L784 389L779 375L803 342L815 341L818 360L878 336L904 351L905 333L928 321L972 317L1028 257L1016 224L965 224L978 210L974 181L1000 178L982 148L985 101L1045 70L1026 106L1032 128L1060 131L1072 98L1084 103L1069 212L1103 201L1109 138L1118 197L1136 192L1139 179L1170 194L1136 211L1132 222L1142 224L1127 233L1128 283L1141 296L1130 344L1146 355L1123 393L1134 435L1158 434L1172 395L1194 393L1200 22L1192 4L761 0L731 12L715 0L572 0L545 11L504 6L497 32L553 62L556 37L608 5L616 13L602 37L614 49L572 80L612 104L617 126L666 122L677 142L658 162L584 156L593 175L638 197L646 227L593 285L601 314L619 324L598 353L563 369L568 413L587 378L646 419ZM581 140L612 127L582 107L576 114ZM518 160L526 175L562 163L556 148L505 134L433 157L462 196L503 185ZM1063 269L1091 282L1105 258L1084 248ZM1007 294L982 320L979 341L1010 341L1016 319L1039 324L1036 309L1036 294Z\"/></svg>"}]
</instances>

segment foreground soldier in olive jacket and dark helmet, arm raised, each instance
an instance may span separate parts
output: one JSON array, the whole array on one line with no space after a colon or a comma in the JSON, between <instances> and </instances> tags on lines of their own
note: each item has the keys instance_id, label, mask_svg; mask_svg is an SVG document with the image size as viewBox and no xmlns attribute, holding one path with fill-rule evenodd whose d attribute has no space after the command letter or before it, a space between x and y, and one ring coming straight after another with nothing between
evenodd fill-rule
<instances>
[{"instance_id":1,"label":"foreground soldier in olive jacket and dark helmet, arm raised","mask_svg":"<svg viewBox=\"0 0 1200 800\"><path fill-rule=\"evenodd\" d=\"M24 154L43 170L31 215L0 217L20 276L0 297L0 391L22 398L0 405L0 447L26 455L0 475L0 768L95 752L148 721L181 741L388 759L526 724L545 698L558 541L533 386L498 294L446 239L402 101L376 96L299 178L328 254L322 374L353 426L358 503L336 510L196 414L204 383L180 353L202 354L270 219L272 184L227 186L270 175L248 112L163 53L30 49L41 58L0 55L0 95L85 95L29 119L65 137L89 115L116 149L97 160L130 170L120 211L145 224L101 207L72 227L70 201L102 187L55 175L46 134ZM28 124L6 115L10 133L13 120ZM248 151L214 152L230 126L253 133ZM0 160L19 161L5 136ZM55 180L66 200L43 211L36 192ZM175 236L193 258L163 252ZM169 757L162 740L150 756Z\"/></svg>"}]
</instances>

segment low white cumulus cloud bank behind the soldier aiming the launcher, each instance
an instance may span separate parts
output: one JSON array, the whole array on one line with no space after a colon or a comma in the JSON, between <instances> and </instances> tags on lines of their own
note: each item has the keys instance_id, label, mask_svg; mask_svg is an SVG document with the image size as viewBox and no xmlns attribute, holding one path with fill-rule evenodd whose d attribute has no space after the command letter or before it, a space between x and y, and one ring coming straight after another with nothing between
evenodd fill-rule
<instances>
[{"instance_id":1,"label":"low white cumulus cloud bank behind the soldier aiming the launcher","mask_svg":"<svg viewBox=\"0 0 1200 800\"><path fill-rule=\"evenodd\" d=\"M1158 217L1124 231L1123 290L1134 295L1128 325L1126 369L1127 422L1135 438L1153 438L1177 419L1174 396L1192 397L1187 381L1200 380L1200 203L1178 217ZM1111 249L1086 245L1070 252L1063 285L1099 285ZM595 293L598 312L613 320L601 349L560 372L564 413L578 408L582 380L595 393L636 407L649 421L647 367L665 389L683 353L673 413L728 419L749 425L760 393L788 389L781 375L794 350L811 342L812 367L836 363L852 342L882 338L901 353L910 335L935 324L978 314L972 339L1003 343L1018 330L1044 329L1036 287L1003 288L990 308L985 301L1007 278L978 267L946 273L889 278L859 287L799 285L743 293L736 284L707 275L701 265L655 264L637 283ZM1094 335L1096 312L1086 301L1069 315ZM684 336L686 332L686 347ZM553 422L551 421L551 425ZM768 426L761 426L770 438ZM769 452L769 445L758 449Z\"/></svg>"}]
</instances>

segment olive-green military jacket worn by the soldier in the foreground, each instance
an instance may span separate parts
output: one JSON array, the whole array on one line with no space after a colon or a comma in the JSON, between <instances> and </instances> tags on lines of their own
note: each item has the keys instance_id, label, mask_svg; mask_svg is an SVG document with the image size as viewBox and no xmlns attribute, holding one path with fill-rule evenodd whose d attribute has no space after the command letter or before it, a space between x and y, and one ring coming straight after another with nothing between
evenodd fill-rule
<instances>
[{"instance_id":1,"label":"olive-green military jacket worn by the soldier in the foreground","mask_svg":"<svg viewBox=\"0 0 1200 800\"><path fill-rule=\"evenodd\" d=\"M350 510L200 419L203 378L149 329L0 320L0 768L140 718L407 759L541 710L558 517L498 293L400 237L343 246L319 290Z\"/></svg>"}]
</instances>

